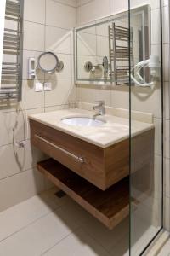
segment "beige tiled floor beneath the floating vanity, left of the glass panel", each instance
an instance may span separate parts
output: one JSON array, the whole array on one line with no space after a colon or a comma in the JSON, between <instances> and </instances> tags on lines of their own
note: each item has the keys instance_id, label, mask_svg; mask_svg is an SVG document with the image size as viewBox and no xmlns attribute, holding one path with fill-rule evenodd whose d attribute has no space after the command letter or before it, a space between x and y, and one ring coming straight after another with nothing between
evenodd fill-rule
<instances>
[{"instance_id":1,"label":"beige tiled floor beneath the floating vanity, left of the glass panel","mask_svg":"<svg viewBox=\"0 0 170 256\"><path fill-rule=\"evenodd\" d=\"M0 212L1 256L122 256L128 218L108 230L67 196L51 189ZM118 234L118 235L117 235Z\"/></svg>"}]
</instances>

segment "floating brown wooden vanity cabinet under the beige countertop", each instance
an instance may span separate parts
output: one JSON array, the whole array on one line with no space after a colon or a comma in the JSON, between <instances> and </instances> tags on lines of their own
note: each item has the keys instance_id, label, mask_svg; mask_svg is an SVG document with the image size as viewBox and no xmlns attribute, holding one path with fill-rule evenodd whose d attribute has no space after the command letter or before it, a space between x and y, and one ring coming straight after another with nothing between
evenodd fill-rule
<instances>
[{"instance_id":1,"label":"floating brown wooden vanity cabinet under the beige countertop","mask_svg":"<svg viewBox=\"0 0 170 256\"><path fill-rule=\"evenodd\" d=\"M108 148L100 148L35 120L30 119L30 124L34 146L99 189L108 189L129 175L128 138ZM139 148L139 152L142 148L142 154L136 149L133 171L141 168L144 161L150 163L148 156L153 153L153 137L154 129L133 138L135 148Z\"/></svg>"}]
</instances>

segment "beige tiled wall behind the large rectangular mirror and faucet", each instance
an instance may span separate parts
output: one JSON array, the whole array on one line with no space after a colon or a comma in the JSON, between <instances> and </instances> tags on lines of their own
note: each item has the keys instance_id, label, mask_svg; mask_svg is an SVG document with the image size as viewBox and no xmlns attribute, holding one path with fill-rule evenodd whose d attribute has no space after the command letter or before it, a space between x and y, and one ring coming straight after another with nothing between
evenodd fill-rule
<instances>
[{"instance_id":1,"label":"beige tiled wall behind the large rectangular mirror and faucet","mask_svg":"<svg viewBox=\"0 0 170 256\"><path fill-rule=\"evenodd\" d=\"M127 9L127 0L77 0L77 26L82 26L90 21L103 18L106 15L112 15L119 11ZM131 7L148 3L148 1L131 0ZM161 56L161 38L160 38L160 1L150 1L151 5L151 53ZM163 15L163 65L164 65L164 202L165 202L165 223L164 226L170 230L170 189L169 189L169 77L168 77L168 1L162 0ZM157 184L161 179L161 87L158 85L156 90L133 88L132 90L132 108L138 111L150 112L154 114L156 125L156 177ZM144 96L146 96L144 98ZM77 85L77 100L82 102L94 102L95 100L105 100L107 105L117 108L128 108L128 88L115 87L105 88L95 85ZM160 137L160 140L158 140ZM155 181L156 182L156 181ZM157 186L159 189L160 186ZM158 196L161 191L158 190ZM158 197L159 198L159 197ZM161 206L160 206L161 207Z\"/></svg>"}]
</instances>

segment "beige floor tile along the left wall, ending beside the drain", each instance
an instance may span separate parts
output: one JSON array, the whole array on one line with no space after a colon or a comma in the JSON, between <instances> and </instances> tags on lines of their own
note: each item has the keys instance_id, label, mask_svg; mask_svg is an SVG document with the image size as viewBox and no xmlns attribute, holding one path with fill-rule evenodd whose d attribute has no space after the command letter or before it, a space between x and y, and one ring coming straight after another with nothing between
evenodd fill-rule
<instances>
[{"instance_id":1,"label":"beige floor tile along the left wall, ending beside the drain","mask_svg":"<svg viewBox=\"0 0 170 256\"><path fill-rule=\"evenodd\" d=\"M31 199L0 212L0 241L48 214L48 212L57 209L62 200L57 199L54 195L55 190L35 195Z\"/></svg>"}]
</instances>

